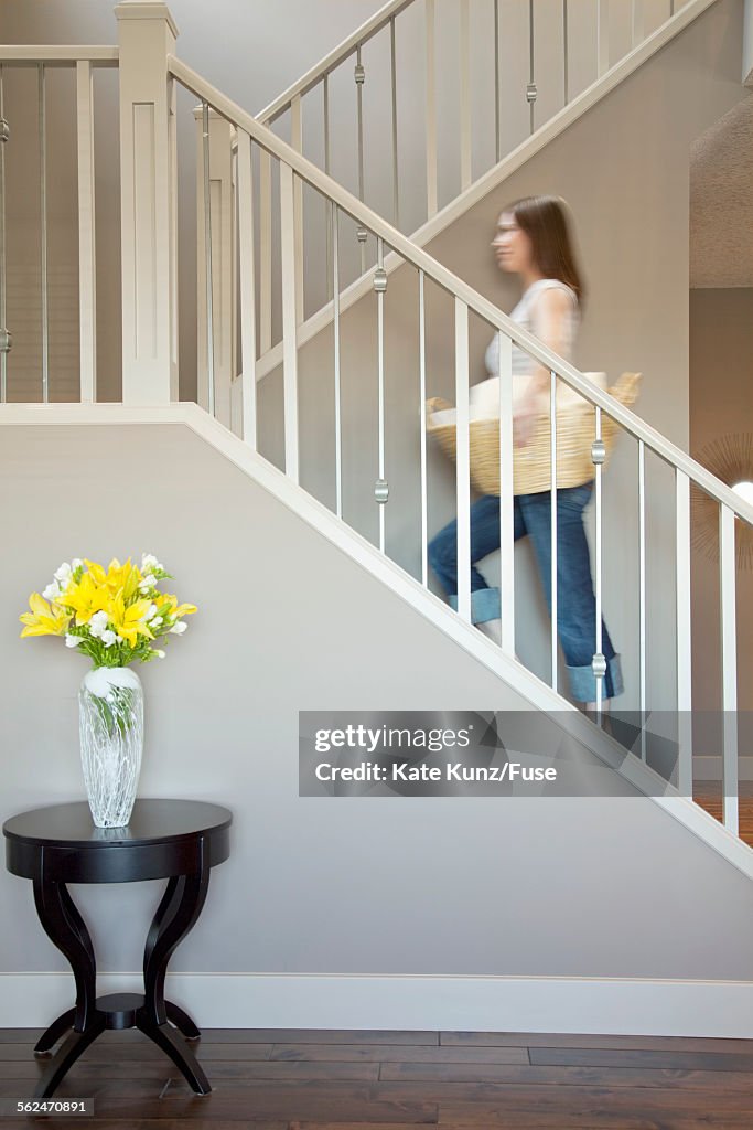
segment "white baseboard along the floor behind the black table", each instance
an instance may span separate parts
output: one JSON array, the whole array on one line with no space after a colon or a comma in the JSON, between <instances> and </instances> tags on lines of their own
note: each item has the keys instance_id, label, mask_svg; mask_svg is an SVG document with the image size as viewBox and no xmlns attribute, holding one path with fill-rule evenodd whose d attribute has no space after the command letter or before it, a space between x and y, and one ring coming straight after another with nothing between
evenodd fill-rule
<instances>
[{"instance_id":1,"label":"white baseboard along the floor behind the black table","mask_svg":"<svg viewBox=\"0 0 753 1130\"><path fill-rule=\"evenodd\" d=\"M137 973L98 990L140 991ZM753 983L640 977L168 974L207 1028L387 1028L753 1038ZM0 974L0 1027L45 1027L75 998L65 973Z\"/></svg>"}]
</instances>

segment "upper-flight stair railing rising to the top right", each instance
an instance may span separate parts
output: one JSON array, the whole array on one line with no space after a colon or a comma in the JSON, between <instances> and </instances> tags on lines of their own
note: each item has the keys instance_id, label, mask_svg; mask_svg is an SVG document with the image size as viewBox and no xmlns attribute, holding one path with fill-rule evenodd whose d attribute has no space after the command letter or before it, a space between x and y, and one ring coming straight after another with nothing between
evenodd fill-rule
<instances>
[{"instance_id":1,"label":"upper-flight stair railing rising to the top right","mask_svg":"<svg viewBox=\"0 0 753 1130\"><path fill-rule=\"evenodd\" d=\"M501 0L391 0L256 119L325 173L336 169L335 179L351 186L359 200L410 234L684 7L683 0L624 0L630 11L625 28L624 20L619 27L610 23L610 2L585 7L568 0L527 0L520 6L524 12L517 12ZM584 64L583 42L593 44L590 64ZM513 58L527 61L525 81L517 89L506 73ZM447 130L439 129L448 114L457 138L453 146L443 144ZM273 210L263 183L261 228L268 257ZM348 245L341 249L343 288L375 262L376 245L366 231L357 227L353 237L357 253ZM329 287L330 254L327 231ZM273 344L270 279L264 270L262 355ZM330 288L321 293L315 285L304 286L303 263L297 287L301 321L332 297Z\"/></svg>"}]
</instances>

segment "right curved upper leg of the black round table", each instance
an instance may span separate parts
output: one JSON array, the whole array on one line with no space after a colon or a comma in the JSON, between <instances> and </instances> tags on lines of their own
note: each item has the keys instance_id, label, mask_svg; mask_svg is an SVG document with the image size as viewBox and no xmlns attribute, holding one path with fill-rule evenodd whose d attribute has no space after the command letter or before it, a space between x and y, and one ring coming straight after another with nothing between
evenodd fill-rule
<instances>
[{"instance_id":1,"label":"right curved upper leg of the black round table","mask_svg":"<svg viewBox=\"0 0 753 1130\"><path fill-rule=\"evenodd\" d=\"M167 963L195 925L207 899L208 888L209 867L204 857L204 843L201 840L196 871L169 880L147 938L143 955L143 1009L148 1022L154 1026L167 1024L165 1006ZM195 1025L193 1028L199 1032Z\"/></svg>"}]
</instances>

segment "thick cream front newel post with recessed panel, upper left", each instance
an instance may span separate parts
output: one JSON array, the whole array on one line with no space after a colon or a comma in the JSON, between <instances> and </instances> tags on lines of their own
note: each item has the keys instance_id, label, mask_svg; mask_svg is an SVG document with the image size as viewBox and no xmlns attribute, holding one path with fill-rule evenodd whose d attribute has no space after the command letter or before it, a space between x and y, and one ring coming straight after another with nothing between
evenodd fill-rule
<instances>
[{"instance_id":1,"label":"thick cream front newel post with recessed panel, upper left","mask_svg":"<svg viewBox=\"0 0 753 1130\"><path fill-rule=\"evenodd\" d=\"M115 7L120 43L123 403L169 403L177 383L175 84L166 3Z\"/></svg>"}]
</instances>

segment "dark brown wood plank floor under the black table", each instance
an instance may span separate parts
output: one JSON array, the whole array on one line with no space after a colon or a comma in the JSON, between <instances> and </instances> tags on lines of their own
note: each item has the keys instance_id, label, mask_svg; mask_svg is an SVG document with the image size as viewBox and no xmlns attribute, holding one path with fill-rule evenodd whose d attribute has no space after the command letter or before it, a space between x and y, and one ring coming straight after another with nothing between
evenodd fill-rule
<instances>
[{"instance_id":1,"label":"dark brown wood plank floor under the black table","mask_svg":"<svg viewBox=\"0 0 753 1130\"><path fill-rule=\"evenodd\" d=\"M0 1096L27 1097L38 1032L0 1029ZM751 1130L753 1041L483 1032L207 1031L194 1096L140 1033L105 1033L55 1097L67 1130ZM0 1130L28 1127L0 1118Z\"/></svg>"}]
</instances>

